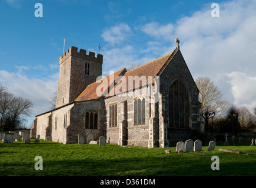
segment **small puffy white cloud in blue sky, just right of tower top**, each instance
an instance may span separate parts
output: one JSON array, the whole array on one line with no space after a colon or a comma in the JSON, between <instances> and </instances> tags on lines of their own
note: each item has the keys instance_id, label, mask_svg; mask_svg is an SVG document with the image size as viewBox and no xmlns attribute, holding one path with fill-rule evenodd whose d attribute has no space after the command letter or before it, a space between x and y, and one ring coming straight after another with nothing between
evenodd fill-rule
<instances>
[{"instance_id":1,"label":"small puffy white cloud in blue sky, just right of tower top","mask_svg":"<svg viewBox=\"0 0 256 188\"><path fill-rule=\"evenodd\" d=\"M131 28L127 24L121 23L105 29L101 37L104 41L115 45L126 41L130 35L132 35Z\"/></svg>"}]
</instances>

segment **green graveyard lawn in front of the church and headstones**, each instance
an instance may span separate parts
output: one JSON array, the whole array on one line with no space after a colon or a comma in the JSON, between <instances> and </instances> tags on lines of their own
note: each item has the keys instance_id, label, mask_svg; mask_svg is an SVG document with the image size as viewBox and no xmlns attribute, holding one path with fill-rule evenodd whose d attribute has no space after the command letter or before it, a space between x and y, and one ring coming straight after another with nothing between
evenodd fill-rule
<instances>
[{"instance_id":1,"label":"green graveyard lawn in front of the church and headstones","mask_svg":"<svg viewBox=\"0 0 256 188\"><path fill-rule=\"evenodd\" d=\"M221 152L220 148L240 150L241 154ZM165 150L171 150L165 154ZM249 154L249 155L248 155ZM36 156L43 170L35 170ZM220 159L220 170L212 170L212 156ZM256 176L256 146L222 146L215 150L175 153L175 147L142 148L107 144L64 145L0 142L0 176Z\"/></svg>"}]
</instances>

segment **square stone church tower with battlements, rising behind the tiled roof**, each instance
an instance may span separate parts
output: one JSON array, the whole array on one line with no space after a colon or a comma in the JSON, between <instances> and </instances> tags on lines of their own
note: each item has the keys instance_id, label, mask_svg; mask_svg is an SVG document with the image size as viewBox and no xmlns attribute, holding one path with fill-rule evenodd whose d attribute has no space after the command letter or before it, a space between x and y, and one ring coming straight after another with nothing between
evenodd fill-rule
<instances>
[{"instance_id":1,"label":"square stone church tower with battlements, rising behind the tiled roof","mask_svg":"<svg viewBox=\"0 0 256 188\"><path fill-rule=\"evenodd\" d=\"M58 108L73 102L91 83L102 75L103 55L71 46L59 58L59 80L56 98Z\"/></svg>"}]
</instances>

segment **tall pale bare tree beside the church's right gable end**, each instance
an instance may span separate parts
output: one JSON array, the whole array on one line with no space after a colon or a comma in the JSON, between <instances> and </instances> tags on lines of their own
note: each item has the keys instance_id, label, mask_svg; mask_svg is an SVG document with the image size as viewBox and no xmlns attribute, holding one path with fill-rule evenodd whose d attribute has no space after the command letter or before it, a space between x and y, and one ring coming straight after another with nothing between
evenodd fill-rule
<instances>
[{"instance_id":1,"label":"tall pale bare tree beside the church's right gable end","mask_svg":"<svg viewBox=\"0 0 256 188\"><path fill-rule=\"evenodd\" d=\"M207 76L199 77L195 80L195 84L200 91L198 96L201 102L202 117L205 122L205 128L212 126L208 125L209 119L215 116L224 115L227 111L229 104L226 100L221 100L221 92Z\"/></svg>"}]
</instances>

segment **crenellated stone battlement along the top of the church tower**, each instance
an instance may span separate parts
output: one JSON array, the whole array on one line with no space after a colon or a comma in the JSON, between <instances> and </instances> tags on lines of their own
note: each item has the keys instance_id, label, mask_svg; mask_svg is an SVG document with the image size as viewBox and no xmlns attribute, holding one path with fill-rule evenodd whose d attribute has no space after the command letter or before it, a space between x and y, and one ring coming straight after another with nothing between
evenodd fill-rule
<instances>
[{"instance_id":1,"label":"crenellated stone battlement along the top of the church tower","mask_svg":"<svg viewBox=\"0 0 256 188\"><path fill-rule=\"evenodd\" d=\"M89 52L87 55L87 51L85 49L80 49L78 52L78 48L75 46L71 46L66 52L62 54L62 56L59 58L59 65L61 65L62 62L64 62L69 56L77 56L79 58L88 59L91 61L96 61L99 63L103 63L103 55L97 54L97 57L95 57L94 52Z\"/></svg>"}]
</instances>

